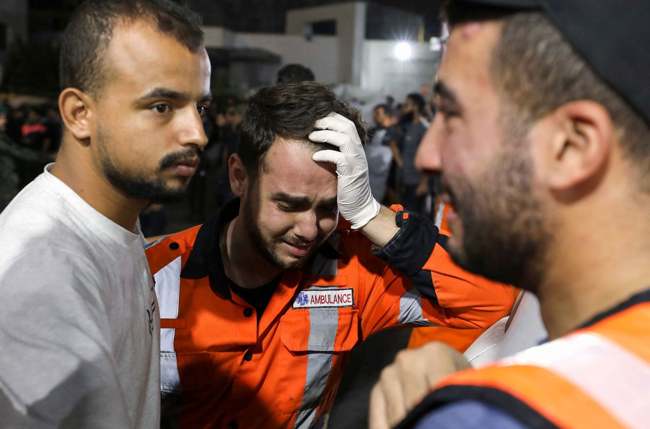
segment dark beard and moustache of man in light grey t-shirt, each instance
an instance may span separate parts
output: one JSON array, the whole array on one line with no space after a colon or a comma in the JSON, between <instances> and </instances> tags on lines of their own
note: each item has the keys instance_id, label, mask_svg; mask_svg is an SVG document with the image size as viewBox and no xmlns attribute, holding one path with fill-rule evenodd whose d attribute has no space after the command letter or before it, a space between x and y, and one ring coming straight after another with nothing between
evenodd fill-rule
<instances>
[{"instance_id":1,"label":"dark beard and moustache of man in light grey t-shirt","mask_svg":"<svg viewBox=\"0 0 650 429\"><path fill-rule=\"evenodd\" d=\"M135 198L142 198L153 203L170 203L180 201L185 197L189 181L180 183L179 185L169 185L160 175L151 178L144 172L133 172L120 166L118 162L110 156L107 150L109 146L109 135L101 127L98 127L98 148L99 148L99 161L103 174L112 185L120 192ZM169 153L161 159L159 167L155 173L162 174L164 170L173 168L174 164L183 159L190 157L200 157L201 150L198 148L188 148L184 151L177 151Z\"/></svg>"}]
</instances>

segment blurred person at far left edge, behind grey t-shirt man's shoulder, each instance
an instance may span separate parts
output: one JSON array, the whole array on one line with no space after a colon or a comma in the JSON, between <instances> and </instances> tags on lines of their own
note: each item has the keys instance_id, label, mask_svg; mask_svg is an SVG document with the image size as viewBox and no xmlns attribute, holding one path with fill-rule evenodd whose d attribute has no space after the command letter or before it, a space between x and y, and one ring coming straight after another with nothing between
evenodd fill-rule
<instances>
[{"instance_id":1,"label":"blurred person at far left edge, behind grey t-shirt man's shoulder","mask_svg":"<svg viewBox=\"0 0 650 429\"><path fill-rule=\"evenodd\" d=\"M14 142L5 132L6 123L7 110L4 105L0 105L0 212L20 190L17 161L40 165L52 161L50 155Z\"/></svg>"}]
</instances>

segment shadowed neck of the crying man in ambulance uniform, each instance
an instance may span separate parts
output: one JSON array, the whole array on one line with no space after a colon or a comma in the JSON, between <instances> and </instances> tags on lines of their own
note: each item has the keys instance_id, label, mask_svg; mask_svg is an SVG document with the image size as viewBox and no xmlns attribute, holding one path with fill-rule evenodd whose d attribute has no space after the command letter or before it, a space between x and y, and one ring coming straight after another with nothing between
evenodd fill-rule
<instances>
[{"instance_id":1,"label":"shadowed neck of the crying man in ambulance uniform","mask_svg":"<svg viewBox=\"0 0 650 429\"><path fill-rule=\"evenodd\" d=\"M257 246L250 240L239 215L222 231L220 247L226 276L240 287L254 289L263 286L282 272L257 252Z\"/></svg>"}]
</instances>

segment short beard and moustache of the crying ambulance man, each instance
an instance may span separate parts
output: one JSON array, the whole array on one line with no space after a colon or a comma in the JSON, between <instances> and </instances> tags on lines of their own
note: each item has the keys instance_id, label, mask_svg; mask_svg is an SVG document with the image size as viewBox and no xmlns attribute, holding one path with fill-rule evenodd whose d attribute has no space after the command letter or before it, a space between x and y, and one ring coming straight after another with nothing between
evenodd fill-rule
<instances>
[{"instance_id":1,"label":"short beard and moustache of the crying ambulance man","mask_svg":"<svg viewBox=\"0 0 650 429\"><path fill-rule=\"evenodd\" d=\"M328 238L328 235L319 235L316 237L316 239L313 241L311 249L309 249L309 252L300 259L293 259L292 262L286 261L278 253L278 245L281 244L281 242L287 241L298 246L305 245L307 243L298 239L298 237L294 237L291 235L291 233L287 233L283 235L283 237L276 237L271 239L267 239L264 236L253 211L252 200L253 198L259 197L255 192L252 192L252 187L253 186L251 185L248 188L248 198L246 198L246 201L244 202L242 220L244 221L244 227L246 227L246 233L248 233L249 239L255 246L255 250L257 250L257 252L262 255L266 262L270 263L276 268L280 268L281 270L300 269L304 268L306 265L309 265L311 259L313 259L315 254L318 252L318 248L320 248L320 246L322 246L322 244Z\"/></svg>"}]
</instances>

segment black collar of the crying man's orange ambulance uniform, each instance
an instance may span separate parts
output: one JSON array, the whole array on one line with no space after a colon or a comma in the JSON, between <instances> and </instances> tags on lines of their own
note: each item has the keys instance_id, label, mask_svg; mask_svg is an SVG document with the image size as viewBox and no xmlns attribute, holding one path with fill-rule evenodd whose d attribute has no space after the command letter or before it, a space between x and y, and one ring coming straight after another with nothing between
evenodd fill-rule
<instances>
[{"instance_id":1,"label":"black collar of the crying man's orange ambulance uniform","mask_svg":"<svg viewBox=\"0 0 650 429\"><path fill-rule=\"evenodd\" d=\"M185 279L201 279L209 276L213 292L228 299L231 298L229 279L224 269L219 239L223 227L239 214L239 203L239 198L228 201L200 227L194 240L194 248L181 272L181 278ZM327 259L341 258L341 254L329 242L320 246L318 253Z\"/></svg>"}]
</instances>

